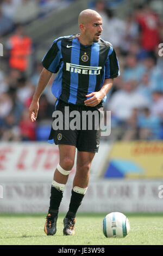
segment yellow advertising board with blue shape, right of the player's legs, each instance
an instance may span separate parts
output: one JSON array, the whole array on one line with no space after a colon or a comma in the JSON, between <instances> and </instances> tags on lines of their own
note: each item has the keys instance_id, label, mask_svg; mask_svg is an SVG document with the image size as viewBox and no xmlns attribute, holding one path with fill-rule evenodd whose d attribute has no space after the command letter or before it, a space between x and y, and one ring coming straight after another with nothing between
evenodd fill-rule
<instances>
[{"instance_id":1,"label":"yellow advertising board with blue shape, right of the player's legs","mask_svg":"<svg viewBox=\"0 0 163 256\"><path fill-rule=\"evenodd\" d=\"M163 142L114 142L106 158L105 178L162 178Z\"/></svg>"}]
</instances>

